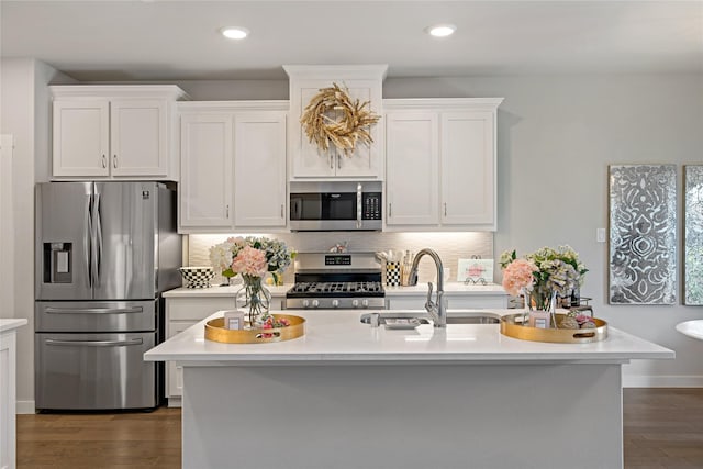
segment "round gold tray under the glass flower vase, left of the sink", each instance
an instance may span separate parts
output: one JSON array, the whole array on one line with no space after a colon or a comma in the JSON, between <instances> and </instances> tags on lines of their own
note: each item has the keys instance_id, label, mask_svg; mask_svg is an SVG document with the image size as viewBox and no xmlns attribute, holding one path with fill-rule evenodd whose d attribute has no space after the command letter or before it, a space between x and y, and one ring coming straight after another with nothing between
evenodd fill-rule
<instances>
[{"instance_id":1,"label":"round gold tray under the glass flower vase, left of the sink","mask_svg":"<svg viewBox=\"0 0 703 469\"><path fill-rule=\"evenodd\" d=\"M274 328L228 330L224 328L224 317L205 323L205 338L224 344L266 344L290 340L305 334L305 319L291 314L274 314L276 319L286 319L290 325Z\"/></svg>"}]
</instances>

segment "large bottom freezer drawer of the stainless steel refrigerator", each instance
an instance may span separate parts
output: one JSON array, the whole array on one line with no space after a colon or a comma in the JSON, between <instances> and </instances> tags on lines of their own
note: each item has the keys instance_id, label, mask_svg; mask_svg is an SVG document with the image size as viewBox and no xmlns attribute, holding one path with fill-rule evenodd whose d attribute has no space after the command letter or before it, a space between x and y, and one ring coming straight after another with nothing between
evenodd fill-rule
<instances>
[{"instance_id":1,"label":"large bottom freezer drawer of the stainless steel refrigerator","mask_svg":"<svg viewBox=\"0 0 703 469\"><path fill-rule=\"evenodd\" d=\"M160 373L156 364L144 361L155 343L155 333L36 333L36 409L156 407Z\"/></svg>"}]
</instances>

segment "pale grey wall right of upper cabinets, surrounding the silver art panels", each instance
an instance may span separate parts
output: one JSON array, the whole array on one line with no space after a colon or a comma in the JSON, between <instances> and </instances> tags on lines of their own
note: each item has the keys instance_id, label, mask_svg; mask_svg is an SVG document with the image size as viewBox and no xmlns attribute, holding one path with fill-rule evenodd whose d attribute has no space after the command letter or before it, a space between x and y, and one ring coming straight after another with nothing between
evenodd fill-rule
<instances>
[{"instance_id":1,"label":"pale grey wall right of upper cabinets, surrounding the silver art panels","mask_svg":"<svg viewBox=\"0 0 703 469\"><path fill-rule=\"evenodd\" d=\"M593 298L595 314L677 353L672 361L625 367L625 383L703 387L703 342L674 331L702 317L703 306L609 305L607 244L595 242L595 230L607 227L610 164L676 164L679 185L682 165L703 164L703 77L388 79L383 96L504 97L495 255L570 244L590 269L582 294ZM681 206L681 186L678 193Z\"/></svg>"}]
</instances>

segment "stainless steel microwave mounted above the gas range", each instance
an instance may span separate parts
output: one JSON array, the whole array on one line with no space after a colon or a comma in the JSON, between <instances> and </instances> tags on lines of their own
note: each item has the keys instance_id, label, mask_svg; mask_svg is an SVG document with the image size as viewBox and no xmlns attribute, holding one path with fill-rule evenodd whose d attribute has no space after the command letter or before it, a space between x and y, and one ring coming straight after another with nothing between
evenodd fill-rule
<instances>
[{"instance_id":1,"label":"stainless steel microwave mounted above the gas range","mask_svg":"<svg viewBox=\"0 0 703 469\"><path fill-rule=\"evenodd\" d=\"M290 228L292 231L380 231L381 192L292 191Z\"/></svg>"}]
</instances>

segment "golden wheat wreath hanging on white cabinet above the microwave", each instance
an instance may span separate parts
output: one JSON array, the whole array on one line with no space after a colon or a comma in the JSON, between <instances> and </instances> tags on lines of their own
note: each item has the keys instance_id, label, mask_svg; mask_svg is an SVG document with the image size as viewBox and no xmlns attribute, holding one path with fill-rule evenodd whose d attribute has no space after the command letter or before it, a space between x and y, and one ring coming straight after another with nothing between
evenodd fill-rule
<instances>
[{"instance_id":1,"label":"golden wheat wreath hanging on white cabinet above the microwave","mask_svg":"<svg viewBox=\"0 0 703 469\"><path fill-rule=\"evenodd\" d=\"M353 101L348 88L332 83L330 88L321 88L315 94L300 123L303 125L310 143L327 152L331 145L352 156L357 142L369 145L373 142L368 127L376 124L380 115L367 109L369 101Z\"/></svg>"}]
</instances>

